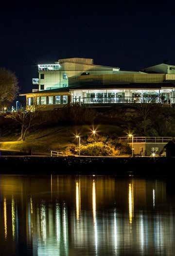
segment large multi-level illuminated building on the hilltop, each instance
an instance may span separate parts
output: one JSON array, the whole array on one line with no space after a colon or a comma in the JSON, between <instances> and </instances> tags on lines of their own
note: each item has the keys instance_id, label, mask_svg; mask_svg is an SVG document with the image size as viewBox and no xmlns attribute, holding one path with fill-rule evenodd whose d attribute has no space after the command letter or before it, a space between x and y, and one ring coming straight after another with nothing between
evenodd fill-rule
<instances>
[{"instance_id":1,"label":"large multi-level illuminated building on the hilltop","mask_svg":"<svg viewBox=\"0 0 175 256\"><path fill-rule=\"evenodd\" d=\"M38 65L38 73L39 78L33 79L38 89L21 94L26 96L27 106L41 105L44 110L53 110L76 103L94 107L175 104L175 66L167 64L133 72L94 65L93 59L69 58Z\"/></svg>"}]
</instances>

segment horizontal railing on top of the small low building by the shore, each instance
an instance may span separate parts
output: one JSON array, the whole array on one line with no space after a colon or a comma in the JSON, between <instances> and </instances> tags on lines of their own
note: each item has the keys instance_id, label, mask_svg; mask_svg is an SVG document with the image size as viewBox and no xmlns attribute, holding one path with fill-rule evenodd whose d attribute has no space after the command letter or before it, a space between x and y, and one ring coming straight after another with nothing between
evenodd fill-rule
<instances>
[{"instance_id":1,"label":"horizontal railing on top of the small low building by the shore","mask_svg":"<svg viewBox=\"0 0 175 256\"><path fill-rule=\"evenodd\" d=\"M132 137L119 137L119 142L132 143ZM174 137L133 137L133 143L167 143L175 139Z\"/></svg>"}]
</instances>

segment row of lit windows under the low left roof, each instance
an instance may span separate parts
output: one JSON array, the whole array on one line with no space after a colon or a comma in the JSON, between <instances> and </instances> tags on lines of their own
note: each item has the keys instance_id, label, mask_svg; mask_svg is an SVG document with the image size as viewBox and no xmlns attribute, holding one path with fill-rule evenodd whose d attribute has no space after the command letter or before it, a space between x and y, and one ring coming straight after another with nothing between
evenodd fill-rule
<instances>
[{"instance_id":1,"label":"row of lit windows under the low left roof","mask_svg":"<svg viewBox=\"0 0 175 256\"><path fill-rule=\"evenodd\" d=\"M41 96L36 97L29 97L27 98L27 105L53 105L53 104L67 104L68 103L68 96L67 95L56 95L56 96Z\"/></svg>"}]
</instances>

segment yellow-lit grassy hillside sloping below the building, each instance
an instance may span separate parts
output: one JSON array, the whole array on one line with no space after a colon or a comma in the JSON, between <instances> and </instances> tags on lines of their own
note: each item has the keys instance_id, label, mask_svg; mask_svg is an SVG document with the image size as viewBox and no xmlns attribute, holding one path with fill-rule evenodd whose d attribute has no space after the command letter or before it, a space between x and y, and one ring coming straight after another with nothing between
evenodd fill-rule
<instances>
[{"instance_id":1,"label":"yellow-lit grassy hillside sloping below the building","mask_svg":"<svg viewBox=\"0 0 175 256\"><path fill-rule=\"evenodd\" d=\"M119 133L120 128L112 125L95 126L99 135ZM12 151L30 151L48 153L50 150L64 151L67 146L77 144L76 134L84 136L91 133L92 126L56 126L53 128L37 128L27 134L25 141L17 141L19 133L1 137L0 147Z\"/></svg>"}]
</instances>

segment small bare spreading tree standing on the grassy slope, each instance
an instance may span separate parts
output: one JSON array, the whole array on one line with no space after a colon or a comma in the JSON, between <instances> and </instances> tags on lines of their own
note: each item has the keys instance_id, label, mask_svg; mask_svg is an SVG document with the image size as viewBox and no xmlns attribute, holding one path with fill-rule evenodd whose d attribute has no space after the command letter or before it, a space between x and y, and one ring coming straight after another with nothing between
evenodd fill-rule
<instances>
[{"instance_id":1,"label":"small bare spreading tree standing on the grassy slope","mask_svg":"<svg viewBox=\"0 0 175 256\"><path fill-rule=\"evenodd\" d=\"M18 110L18 112L12 112L5 116L5 118L10 118L15 120L21 125L21 135L19 140L25 141L27 131L36 126L44 123L40 118L40 110L37 110L35 106L31 106L28 110Z\"/></svg>"}]
</instances>

